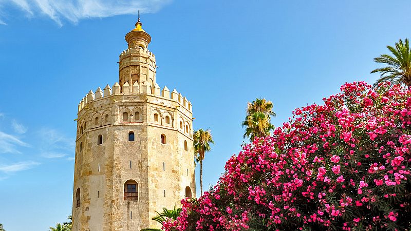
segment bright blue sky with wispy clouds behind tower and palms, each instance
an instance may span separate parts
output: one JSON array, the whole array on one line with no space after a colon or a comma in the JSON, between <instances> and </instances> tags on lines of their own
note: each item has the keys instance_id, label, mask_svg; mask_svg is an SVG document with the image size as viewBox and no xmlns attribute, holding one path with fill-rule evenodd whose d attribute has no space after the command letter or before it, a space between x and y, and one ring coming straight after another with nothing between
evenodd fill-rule
<instances>
[{"instance_id":1,"label":"bright blue sky with wispy clouds behind tower and palms","mask_svg":"<svg viewBox=\"0 0 411 231\"><path fill-rule=\"evenodd\" d=\"M116 62L138 9L153 38L158 84L191 100L194 129L212 130L208 188L240 150L248 101L273 101L272 122L281 126L294 108L321 103L345 82L372 83L378 74L369 72L379 67L373 57L411 37L410 7L374 0L0 0L0 223L7 231L40 231L70 214L77 105L90 89L118 81Z\"/></svg>"}]
</instances>

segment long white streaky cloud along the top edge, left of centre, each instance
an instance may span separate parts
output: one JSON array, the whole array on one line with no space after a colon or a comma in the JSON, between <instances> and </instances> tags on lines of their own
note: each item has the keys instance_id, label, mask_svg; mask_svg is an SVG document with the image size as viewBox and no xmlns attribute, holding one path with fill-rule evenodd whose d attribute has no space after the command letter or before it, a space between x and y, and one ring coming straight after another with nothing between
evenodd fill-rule
<instances>
[{"instance_id":1,"label":"long white streaky cloud along the top edge, left of centre","mask_svg":"<svg viewBox=\"0 0 411 231\"><path fill-rule=\"evenodd\" d=\"M84 18L110 17L123 14L154 13L172 0L0 0L0 9L20 9L26 16L46 15L62 26L67 20L74 24ZM0 12L0 15L5 13ZM6 22L3 24L6 24Z\"/></svg>"}]
</instances>

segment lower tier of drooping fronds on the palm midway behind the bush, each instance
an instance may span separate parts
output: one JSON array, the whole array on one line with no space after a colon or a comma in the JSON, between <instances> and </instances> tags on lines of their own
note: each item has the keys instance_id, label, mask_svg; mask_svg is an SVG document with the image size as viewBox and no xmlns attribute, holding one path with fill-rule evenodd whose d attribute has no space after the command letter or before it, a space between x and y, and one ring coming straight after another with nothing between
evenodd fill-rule
<instances>
[{"instance_id":1,"label":"lower tier of drooping fronds on the palm midway behind the bush","mask_svg":"<svg viewBox=\"0 0 411 231\"><path fill-rule=\"evenodd\" d=\"M246 127L246 132L243 138L250 138L252 142L255 137L266 137L270 135L270 131L274 130L274 125L270 123L269 117L263 112L255 112L247 115L246 120L242 121L241 125Z\"/></svg>"}]
</instances>

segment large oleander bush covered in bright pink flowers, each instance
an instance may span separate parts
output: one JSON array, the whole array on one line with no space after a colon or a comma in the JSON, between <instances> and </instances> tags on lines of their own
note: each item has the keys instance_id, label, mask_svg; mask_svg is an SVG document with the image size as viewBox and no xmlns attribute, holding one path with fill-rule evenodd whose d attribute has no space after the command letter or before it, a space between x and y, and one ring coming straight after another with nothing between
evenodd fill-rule
<instances>
[{"instance_id":1,"label":"large oleander bush covered in bright pink flowers","mask_svg":"<svg viewBox=\"0 0 411 231\"><path fill-rule=\"evenodd\" d=\"M228 160L217 185L182 200L165 230L409 230L411 92L346 83L297 108Z\"/></svg>"}]
</instances>

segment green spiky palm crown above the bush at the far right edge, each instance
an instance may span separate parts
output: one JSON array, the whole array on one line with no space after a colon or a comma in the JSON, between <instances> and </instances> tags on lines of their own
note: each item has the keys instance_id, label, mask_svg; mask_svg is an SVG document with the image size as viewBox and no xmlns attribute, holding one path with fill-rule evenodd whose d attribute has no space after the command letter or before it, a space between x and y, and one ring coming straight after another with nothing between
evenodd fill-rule
<instances>
[{"instance_id":1,"label":"green spiky palm crown above the bush at the far right edge","mask_svg":"<svg viewBox=\"0 0 411 231\"><path fill-rule=\"evenodd\" d=\"M405 84L408 87L411 86L411 50L409 49L408 38L405 38L405 43L400 40L398 43L395 43L395 47L387 46L387 48L394 56L382 54L374 59L377 63L388 65L371 71L371 73L380 72L381 76L374 83L374 87L385 81L390 81L393 84Z\"/></svg>"}]
</instances>

